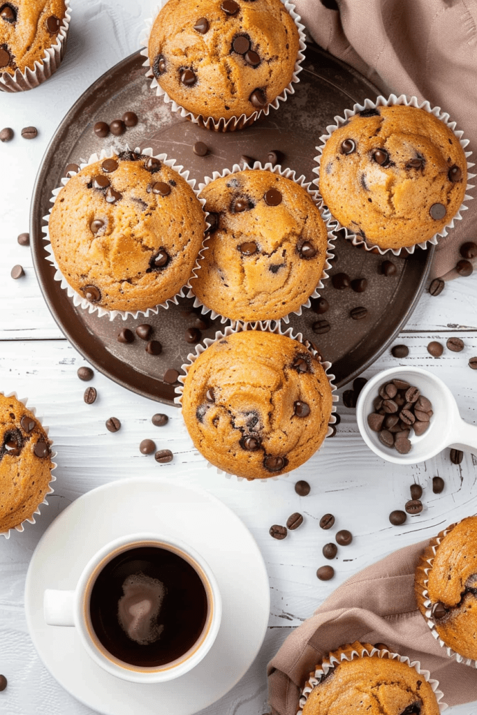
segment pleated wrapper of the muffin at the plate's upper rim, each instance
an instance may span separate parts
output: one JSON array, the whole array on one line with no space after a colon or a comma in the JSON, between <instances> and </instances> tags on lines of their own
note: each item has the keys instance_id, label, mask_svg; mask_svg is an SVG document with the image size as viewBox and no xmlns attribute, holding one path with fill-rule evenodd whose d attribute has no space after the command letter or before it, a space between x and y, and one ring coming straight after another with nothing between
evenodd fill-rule
<instances>
[{"instance_id":1,"label":"pleated wrapper of the muffin at the plate's upper rim","mask_svg":"<svg viewBox=\"0 0 477 715\"><path fill-rule=\"evenodd\" d=\"M236 129L245 129L245 127L250 127L250 125L256 122L259 117L262 117L262 115L267 117L268 113L270 112L270 108L278 109L280 102L285 102L288 94L295 94L295 88L293 87L293 84L300 82L298 74L300 74L303 69L301 63L305 59L305 55L303 54L306 49L305 25L302 24L300 15L295 12L294 4L289 2L289 0L280 1L285 6L285 9L287 9L288 13L295 22L295 25L297 26L298 36L300 39L300 49L297 53L295 68L293 69L290 84L287 84L287 87L285 87L283 92L279 94L278 97L275 97L273 102L267 104L266 107L257 110L257 112L253 112L253 114L250 114L249 116L247 116L247 114L240 114L240 117L230 117L230 119L225 119L225 117L221 117L220 119L213 119L212 117L204 117L202 114L193 114L188 109L185 109L185 107L182 107L182 105L177 104L177 102L174 102L174 99L169 97L169 94L167 94L167 92L162 89L159 82L157 82L157 79L154 77L154 74L152 74L151 63L149 62L148 55L149 35L151 34L152 25L154 24L154 21L157 18L159 11L162 10L165 4L167 4L167 0L161 0L159 2L159 5L157 6L157 11L154 14L154 17L147 19L144 37L141 40L141 44L144 45L144 49L141 50L140 54L145 57L145 61L142 66L147 67L146 77L148 79L151 79L151 89L155 89L157 97L162 97L166 104L171 105L172 112L179 112L181 117L189 119L190 122L194 122L194 124L199 124L200 127L212 129L212 131L214 132L235 132Z\"/></svg>"}]
</instances>

